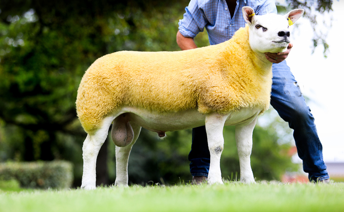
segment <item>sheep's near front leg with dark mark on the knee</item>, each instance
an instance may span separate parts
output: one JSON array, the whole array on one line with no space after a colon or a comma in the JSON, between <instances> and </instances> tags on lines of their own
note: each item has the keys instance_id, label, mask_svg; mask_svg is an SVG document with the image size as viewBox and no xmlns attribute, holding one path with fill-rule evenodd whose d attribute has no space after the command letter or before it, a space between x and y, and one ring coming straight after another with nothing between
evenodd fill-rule
<instances>
[{"instance_id":1,"label":"sheep's near front leg with dark mark on the knee","mask_svg":"<svg viewBox=\"0 0 344 212\"><path fill-rule=\"evenodd\" d=\"M228 115L211 113L206 116L206 131L210 151L209 184L223 184L220 158L223 150L223 126Z\"/></svg>"}]
</instances>

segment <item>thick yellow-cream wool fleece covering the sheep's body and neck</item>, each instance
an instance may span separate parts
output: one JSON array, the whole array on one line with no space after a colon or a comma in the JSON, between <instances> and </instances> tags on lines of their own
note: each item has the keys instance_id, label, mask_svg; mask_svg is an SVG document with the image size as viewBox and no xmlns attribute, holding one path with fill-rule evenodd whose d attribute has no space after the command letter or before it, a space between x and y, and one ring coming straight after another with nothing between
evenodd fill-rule
<instances>
[{"instance_id":1,"label":"thick yellow-cream wool fleece covering the sheep's body and neck","mask_svg":"<svg viewBox=\"0 0 344 212\"><path fill-rule=\"evenodd\" d=\"M248 26L222 44L177 52L122 51L97 59L83 76L77 113L84 130L98 128L122 106L158 112L228 113L269 108L272 65L262 68Z\"/></svg>"}]
</instances>

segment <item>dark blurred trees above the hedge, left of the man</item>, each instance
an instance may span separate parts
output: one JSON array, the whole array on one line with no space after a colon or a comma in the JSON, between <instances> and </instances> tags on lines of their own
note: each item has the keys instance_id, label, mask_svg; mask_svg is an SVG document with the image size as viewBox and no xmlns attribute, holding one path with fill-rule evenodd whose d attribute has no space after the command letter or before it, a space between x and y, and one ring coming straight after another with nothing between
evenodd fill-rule
<instances>
[{"instance_id":1,"label":"dark blurred trees above the hedge, left of the man","mask_svg":"<svg viewBox=\"0 0 344 212\"><path fill-rule=\"evenodd\" d=\"M0 118L11 147L3 158L74 160L80 176L81 154L74 150L81 152L86 135L74 102L82 75L107 53L177 50L178 18L187 4L180 2L2 1ZM106 167L104 153L98 168Z\"/></svg>"}]
</instances>

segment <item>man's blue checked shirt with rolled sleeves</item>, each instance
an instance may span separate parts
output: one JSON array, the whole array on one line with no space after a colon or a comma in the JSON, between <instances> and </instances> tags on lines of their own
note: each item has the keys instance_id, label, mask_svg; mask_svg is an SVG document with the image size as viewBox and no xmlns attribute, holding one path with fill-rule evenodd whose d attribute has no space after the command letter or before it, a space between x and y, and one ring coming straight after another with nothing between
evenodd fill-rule
<instances>
[{"instance_id":1,"label":"man's blue checked shirt with rolled sleeves","mask_svg":"<svg viewBox=\"0 0 344 212\"><path fill-rule=\"evenodd\" d=\"M210 45L220 44L230 39L240 28L245 27L242 7L251 7L256 15L277 13L274 0L237 0L234 17L225 0L191 0L179 20L179 32L184 37L196 37L207 29Z\"/></svg>"}]
</instances>

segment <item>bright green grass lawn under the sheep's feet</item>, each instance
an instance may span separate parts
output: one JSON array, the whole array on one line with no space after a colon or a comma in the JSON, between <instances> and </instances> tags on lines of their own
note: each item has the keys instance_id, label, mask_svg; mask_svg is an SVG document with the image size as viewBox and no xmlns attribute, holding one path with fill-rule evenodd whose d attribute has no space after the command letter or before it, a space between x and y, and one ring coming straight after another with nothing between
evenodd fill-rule
<instances>
[{"instance_id":1,"label":"bright green grass lawn under the sheep's feet","mask_svg":"<svg viewBox=\"0 0 344 212\"><path fill-rule=\"evenodd\" d=\"M344 183L0 191L0 211L344 211Z\"/></svg>"}]
</instances>

